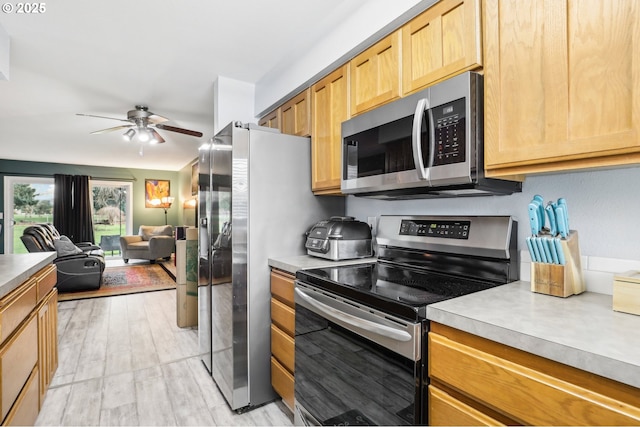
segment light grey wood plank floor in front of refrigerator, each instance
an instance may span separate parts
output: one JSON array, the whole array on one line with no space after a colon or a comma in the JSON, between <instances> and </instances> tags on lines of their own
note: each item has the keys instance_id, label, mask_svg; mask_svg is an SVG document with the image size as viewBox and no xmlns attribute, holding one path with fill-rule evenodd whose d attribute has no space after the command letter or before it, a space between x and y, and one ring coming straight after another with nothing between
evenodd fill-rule
<instances>
[{"instance_id":1,"label":"light grey wood plank floor in front of refrigerator","mask_svg":"<svg viewBox=\"0 0 640 427\"><path fill-rule=\"evenodd\" d=\"M174 290L58 303L59 366L36 425L292 425L281 401L231 411L175 313Z\"/></svg>"}]
</instances>

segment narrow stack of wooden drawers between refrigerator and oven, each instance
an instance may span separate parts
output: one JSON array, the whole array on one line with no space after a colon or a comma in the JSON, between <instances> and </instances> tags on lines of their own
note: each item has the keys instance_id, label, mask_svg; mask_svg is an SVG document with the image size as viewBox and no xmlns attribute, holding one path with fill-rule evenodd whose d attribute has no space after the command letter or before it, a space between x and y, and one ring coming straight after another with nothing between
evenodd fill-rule
<instances>
[{"instance_id":1,"label":"narrow stack of wooden drawers between refrigerator and oven","mask_svg":"<svg viewBox=\"0 0 640 427\"><path fill-rule=\"evenodd\" d=\"M295 302L292 274L271 270L271 385L293 411Z\"/></svg>"}]
</instances>

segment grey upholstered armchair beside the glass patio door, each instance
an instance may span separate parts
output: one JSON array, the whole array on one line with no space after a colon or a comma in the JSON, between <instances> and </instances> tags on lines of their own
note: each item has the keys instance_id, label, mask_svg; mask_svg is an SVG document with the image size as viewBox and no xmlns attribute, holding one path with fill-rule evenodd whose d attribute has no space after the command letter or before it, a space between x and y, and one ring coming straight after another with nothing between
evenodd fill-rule
<instances>
[{"instance_id":1,"label":"grey upholstered armchair beside the glass patio door","mask_svg":"<svg viewBox=\"0 0 640 427\"><path fill-rule=\"evenodd\" d=\"M141 225L135 236L120 236L122 259L147 259L152 264L159 258L170 259L175 250L173 227L170 225Z\"/></svg>"}]
</instances>

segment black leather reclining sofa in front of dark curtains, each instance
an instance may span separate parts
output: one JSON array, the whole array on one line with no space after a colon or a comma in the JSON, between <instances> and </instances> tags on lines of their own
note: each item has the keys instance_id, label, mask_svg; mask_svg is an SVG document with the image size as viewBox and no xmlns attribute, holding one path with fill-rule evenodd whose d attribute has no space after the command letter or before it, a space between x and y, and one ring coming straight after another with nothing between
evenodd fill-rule
<instances>
[{"instance_id":1,"label":"black leather reclining sofa in front of dark curtains","mask_svg":"<svg viewBox=\"0 0 640 427\"><path fill-rule=\"evenodd\" d=\"M74 243L51 224L25 228L20 240L29 252L56 252L58 292L100 288L105 268L104 251L91 242Z\"/></svg>"}]
</instances>

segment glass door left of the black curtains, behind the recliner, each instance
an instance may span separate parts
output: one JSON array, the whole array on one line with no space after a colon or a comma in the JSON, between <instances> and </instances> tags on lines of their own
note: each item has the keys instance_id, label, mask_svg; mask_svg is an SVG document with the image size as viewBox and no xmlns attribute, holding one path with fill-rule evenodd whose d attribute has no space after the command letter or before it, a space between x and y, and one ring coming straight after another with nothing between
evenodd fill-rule
<instances>
[{"instance_id":1,"label":"glass door left of the black curtains, behind the recliner","mask_svg":"<svg viewBox=\"0 0 640 427\"><path fill-rule=\"evenodd\" d=\"M20 240L24 229L53 223L53 178L5 177L4 195L4 253L27 253Z\"/></svg>"}]
</instances>

